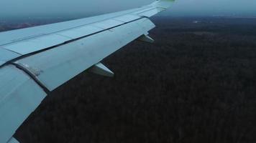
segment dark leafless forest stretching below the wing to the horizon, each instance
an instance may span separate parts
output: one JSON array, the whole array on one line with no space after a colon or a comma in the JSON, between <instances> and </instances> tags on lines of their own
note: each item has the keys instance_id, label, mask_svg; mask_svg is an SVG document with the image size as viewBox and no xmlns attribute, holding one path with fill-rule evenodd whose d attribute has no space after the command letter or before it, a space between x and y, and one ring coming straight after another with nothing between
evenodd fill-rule
<instances>
[{"instance_id":1,"label":"dark leafless forest stretching below the wing to the horizon","mask_svg":"<svg viewBox=\"0 0 256 143\"><path fill-rule=\"evenodd\" d=\"M256 19L152 19L134 41L50 94L20 142L256 142Z\"/></svg>"}]
</instances>

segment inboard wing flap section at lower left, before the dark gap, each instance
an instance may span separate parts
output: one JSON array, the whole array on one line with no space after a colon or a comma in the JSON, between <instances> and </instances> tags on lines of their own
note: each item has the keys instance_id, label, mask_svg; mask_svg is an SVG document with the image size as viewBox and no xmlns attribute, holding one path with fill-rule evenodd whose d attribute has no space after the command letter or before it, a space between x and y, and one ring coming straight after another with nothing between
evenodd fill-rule
<instances>
[{"instance_id":1,"label":"inboard wing flap section at lower left, before the dark gap","mask_svg":"<svg viewBox=\"0 0 256 143\"><path fill-rule=\"evenodd\" d=\"M8 142L46 93L15 66L0 70L0 142Z\"/></svg>"}]
</instances>

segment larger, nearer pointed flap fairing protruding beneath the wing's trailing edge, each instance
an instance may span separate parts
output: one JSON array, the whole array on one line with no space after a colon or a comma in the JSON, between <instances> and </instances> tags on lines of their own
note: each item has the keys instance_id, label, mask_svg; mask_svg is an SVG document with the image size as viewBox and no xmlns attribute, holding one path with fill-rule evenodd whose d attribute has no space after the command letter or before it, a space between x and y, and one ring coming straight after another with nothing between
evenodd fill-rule
<instances>
[{"instance_id":1,"label":"larger, nearer pointed flap fairing protruding beneath the wing's trailing edge","mask_svg":"<svg viewBox=\"0 0 256 143\"><path fill-rule=\"evenodd\" d=\"M105 77L114 77L114 72L108 69L104 64L98 63L94 64L90 69L88 69L93 74L99 74Z\"/></svg>"}]
</instances>

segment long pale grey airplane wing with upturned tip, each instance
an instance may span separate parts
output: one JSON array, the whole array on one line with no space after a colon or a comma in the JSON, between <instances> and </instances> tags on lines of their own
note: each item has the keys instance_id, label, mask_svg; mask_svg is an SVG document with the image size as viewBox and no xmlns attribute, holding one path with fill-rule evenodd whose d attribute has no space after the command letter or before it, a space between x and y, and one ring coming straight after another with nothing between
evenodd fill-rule
<instances>
[{"instance_id":1,"label":"long pale grey airplane wing with upturned tip","mask_svg":"<svg viewBox=\"0 0 256 143\"><path fill-rule=\"evenodd\" d=\"M135 39L152 42L149 17L173 0L137 9L0 33L0 142L14 133L42 100L83 71L108 77L101 60Z\"/></svg>"}]
</instances>

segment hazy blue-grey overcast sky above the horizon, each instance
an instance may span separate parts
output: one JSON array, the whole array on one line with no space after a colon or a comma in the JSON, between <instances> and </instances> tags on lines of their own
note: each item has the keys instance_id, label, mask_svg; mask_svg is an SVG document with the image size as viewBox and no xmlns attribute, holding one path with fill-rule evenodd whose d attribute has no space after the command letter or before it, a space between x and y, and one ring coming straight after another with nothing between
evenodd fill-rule
<instances>
[{"instance_id":1,"label":"hazy blue-grey overcast sky above the horizon","mask_svg":"<svg viewBox=\"0 0 256 143\"><path fill-rule=\"evenodd\" d=\"M1 16L65 16L109 13L150 4L153 0L0 0ZM177 0L162 15L256 16L256 0Z\"/></svg>"}]
</instances>

